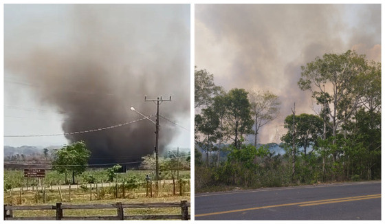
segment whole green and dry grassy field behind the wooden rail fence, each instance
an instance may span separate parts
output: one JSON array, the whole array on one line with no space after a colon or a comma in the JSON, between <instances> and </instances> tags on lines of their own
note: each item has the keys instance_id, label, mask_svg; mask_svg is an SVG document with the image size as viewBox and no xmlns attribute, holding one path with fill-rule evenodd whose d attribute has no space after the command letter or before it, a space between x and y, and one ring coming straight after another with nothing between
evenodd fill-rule
<instances>
[{"instance_id":1,"label":"whole green and dry grassy field behind the wooden rail fence","mask_svg":"<svg viewBox=\"0 0 385 224\"><path fill-rule=\"evenodd\" d=\"M129 170L118 173L116 183L106 183L107 173L102 169L87 170L83 175L76 177L76 185L69 189L65 183L65 176L56 171L47 170L43 186L38 179L23 177L22 170L4 170L4 203L8 205L55 205L63 204L104 204L104 203L153 203L153 202L180 202L190 201L190 170L179 171L181 182L162 177L159 181L159 191L156 192L155 181L152 188L144 181L146 170ZM87 183L88 177L94 177L94 183ZM67 177L70 179L70 177ZM122 182L134 179L133 185ZM103 184L102 184L103 183ZM27 188L28 184L28 188ZM36 189L36 186L39 187ZM32 186L34 186L32 188ZM174 191L175 188L175 191ZM32 190L33 189L33 190ZM60 191L59 191L60 189ZM152 189L152 197L151 197ZM180 214L180 208L135 208L124 209L124 214ZM17 216L54 216L54 210L14 211ZM115 209L105 210L64 210L64 216L115 216Z\"/></svg>"}]
</instances>

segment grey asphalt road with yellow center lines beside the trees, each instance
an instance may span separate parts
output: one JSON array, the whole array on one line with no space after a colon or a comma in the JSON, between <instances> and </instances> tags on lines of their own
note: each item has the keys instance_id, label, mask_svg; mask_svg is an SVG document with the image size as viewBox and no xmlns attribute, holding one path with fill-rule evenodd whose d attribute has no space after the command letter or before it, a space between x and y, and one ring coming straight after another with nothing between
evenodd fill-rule
<instances>
[{"instance_id":1,"label":"grey asphalt road with yellow center lines beside the trees","mask_svg":"<svg viewBox=\"0 0 385 224\"><path fill-rule=\"evenodd\" d=\"M380 220L381 181L195 194L195 220Z\"/></svg>"}]
</instances>

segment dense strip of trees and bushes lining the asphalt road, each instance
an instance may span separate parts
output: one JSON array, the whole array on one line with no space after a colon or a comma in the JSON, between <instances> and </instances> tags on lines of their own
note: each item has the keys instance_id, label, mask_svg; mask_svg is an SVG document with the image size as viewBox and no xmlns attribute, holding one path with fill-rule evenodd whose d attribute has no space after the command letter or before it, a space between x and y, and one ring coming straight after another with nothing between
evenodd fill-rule
<instances>
[{"instance_id":1,"label":"dense strip of trees and bushes lining the asphalt road","mask_svg":"<svg viewBox=\"0 0 385 224\"><path fill-rule=\"evenodd\" d=\"M276 118L278 96L225 91L208 71L195 70L196 192L381 178L381 64L348 51L301 68L298 87L311 91L318 107L298 115L293 105L283 155L245 141ZM220 161L223 151L228 157Z\"/></svg>"}]
</instances>

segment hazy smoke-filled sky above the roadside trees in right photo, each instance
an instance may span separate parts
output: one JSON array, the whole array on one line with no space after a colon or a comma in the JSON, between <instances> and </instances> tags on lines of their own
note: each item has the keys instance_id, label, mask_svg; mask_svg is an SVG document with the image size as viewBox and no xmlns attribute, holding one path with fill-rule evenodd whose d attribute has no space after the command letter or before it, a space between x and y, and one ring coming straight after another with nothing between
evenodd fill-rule
<instances>
[{"instance_id":1,"label":"hazy smoke-filled sky above the roadside trees in right photo","mask_svg":"<svg viewBox=\"0 0 385 224\"><path fill-rule=\"evenodd\" d=\"M355 49L381 61L381 5L195 5L195 65L232 88L270 90L281 115L259 131L260 142L281 142L292 112L314 113L297 82L300 66L326 53Z\"/></svg>"}]
</instances>

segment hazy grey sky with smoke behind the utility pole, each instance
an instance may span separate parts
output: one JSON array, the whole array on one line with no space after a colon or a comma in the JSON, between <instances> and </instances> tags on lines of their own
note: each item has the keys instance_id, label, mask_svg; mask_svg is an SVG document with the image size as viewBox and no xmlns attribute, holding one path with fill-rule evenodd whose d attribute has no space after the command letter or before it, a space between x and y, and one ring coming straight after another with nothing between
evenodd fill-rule
<instances>
[{"instance_id":1,"label":"hazy grey sky with smoke behind the utility pole","mask_svg":"<svg viewBox=\"0 0 385 224\"><path fill-rule=\"evenodd\" d=\"M4 42L4 135L137 120L129 107L156 111L145 95L172 96L160 113L190 130L190 5L5 5ZM124 138L137 144L147 135L153 150L155 125L129 126ZM164 145L190 147L184 128L161 119L160 133ZM4 138L10 146L68 143L63 135Z\"/></svg>"}]
</instances>

